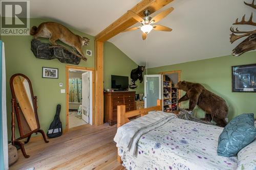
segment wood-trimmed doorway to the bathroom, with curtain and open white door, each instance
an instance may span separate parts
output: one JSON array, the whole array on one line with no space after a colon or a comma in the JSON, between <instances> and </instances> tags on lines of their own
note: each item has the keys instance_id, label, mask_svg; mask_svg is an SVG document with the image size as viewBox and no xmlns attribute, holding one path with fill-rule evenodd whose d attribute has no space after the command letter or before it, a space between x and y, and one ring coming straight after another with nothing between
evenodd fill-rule
<instances>
[{"instance_id":1,"label":"wood-trimmed doorway to the bathroom, with curtain and open white door","mask_svg":"<svg viewBox=\"0 0 256 170\"><path fill-rule=\"evenodd\" d=\"M93 70L66 66L66 131L94 123Z\"/></svg>"}]
</instances>

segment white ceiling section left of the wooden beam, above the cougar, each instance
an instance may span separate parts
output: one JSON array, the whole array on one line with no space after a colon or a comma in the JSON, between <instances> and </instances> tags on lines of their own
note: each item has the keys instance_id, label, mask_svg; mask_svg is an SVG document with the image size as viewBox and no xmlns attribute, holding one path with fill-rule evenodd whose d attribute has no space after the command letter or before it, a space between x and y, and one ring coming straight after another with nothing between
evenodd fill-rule
<instances>
[{"instance_id":1,"label":"white ceiling section left of the wooden beam, above the cougar","mask_svg":"<svg viewBox=\"0 0 256 170\"><path fill-rule=\"evenodd\" d=\"M140 0L33 0L31 18L58 20L81 32L97 35Z\"/></svg>"}]
</instances>

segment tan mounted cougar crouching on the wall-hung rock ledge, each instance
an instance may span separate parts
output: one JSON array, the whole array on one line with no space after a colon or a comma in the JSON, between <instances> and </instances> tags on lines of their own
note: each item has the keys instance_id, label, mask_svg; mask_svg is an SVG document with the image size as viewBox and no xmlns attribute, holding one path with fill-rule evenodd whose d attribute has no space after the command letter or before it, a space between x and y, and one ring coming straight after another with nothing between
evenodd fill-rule
<instances>
[{"instance_id":1,"label":"tan mounted cougar crouching on the wall-hung rock ledge","mask_svg":"<svg viewBox=\"0 0 256 170\"><path fill-rule=\"evenodd\" d=\"M54 46L60 46L56 43L57 40L66 43L73 47L80 55L76 54L77 57L87 60L82 52L82 46L88 45L90 39L87 37L81 37L72 33L68 28L56 22L42 22L38 27L33 26L30 30L30 35L37 37L49 38L50 43ZM61 46L63 47L63 46ZM63 47L65 48L65 47Z\"/></svg>"}]
</instances>

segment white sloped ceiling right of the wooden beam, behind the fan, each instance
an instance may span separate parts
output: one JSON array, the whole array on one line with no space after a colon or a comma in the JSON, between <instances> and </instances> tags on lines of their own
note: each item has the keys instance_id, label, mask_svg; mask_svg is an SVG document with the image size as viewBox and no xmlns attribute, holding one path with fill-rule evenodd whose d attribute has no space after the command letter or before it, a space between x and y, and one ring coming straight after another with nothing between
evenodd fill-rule
<instances>
[{"instance_id":1,"label":"white sloped ceiling right of the wooden beam, behind the fan","mask_svg":"<svg viewBox=\"0 0 256 170\"><path fill-rule=\"evenodd\" d=\"M253 11L241 0L179 0L162 10L169 7L174 11L158 23L172 28L172 32L153 30L147 41L142 41L140 30L136 30L110 41L137 64L147 61L148 67L221 57L231 54L237 45L229 42L232 23Z\"/></svg>"}]
</instances>

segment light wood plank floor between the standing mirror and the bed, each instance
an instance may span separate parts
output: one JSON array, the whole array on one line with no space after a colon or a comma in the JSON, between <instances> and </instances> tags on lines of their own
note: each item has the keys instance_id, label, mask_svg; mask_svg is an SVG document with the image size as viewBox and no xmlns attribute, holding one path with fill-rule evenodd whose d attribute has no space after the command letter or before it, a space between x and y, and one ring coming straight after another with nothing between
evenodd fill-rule
<instances>
[{"instance_id":1,"label":"light wood plank floor between the standing mirror and the bed","mask_svg":"<svg viewBox=\"0 0 256 170\"><path fill-rule=\"evenodd\" d=\"M113 141L116 126L98 127L83 125L66 134L44 140L30 141L25 145L29 158L18 151L18 161L10 169L125 169L117 162L116 143Z\"/></svg>"}]
</instances>

